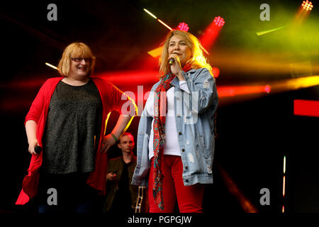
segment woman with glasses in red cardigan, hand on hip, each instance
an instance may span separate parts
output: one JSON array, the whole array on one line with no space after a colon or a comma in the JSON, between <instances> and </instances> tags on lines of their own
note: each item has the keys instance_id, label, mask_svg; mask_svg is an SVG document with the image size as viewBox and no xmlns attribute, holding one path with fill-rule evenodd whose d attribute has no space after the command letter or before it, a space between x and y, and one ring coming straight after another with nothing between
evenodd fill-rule
<instances>
[{"instance_id":1,"label":"woman with glasses in red cardigan, hand on hip","mask_svg":"<svg viewBox=\"0 0 319 227\"><path fill-rule=\"evenodd\" d=\"M106 151L128 128L137 108L113 84L91 77L94 65L89 47L72 43L58 65L62 77L47 79L40 88L26 116L32 157L16 204L38 194L40 213L87 212L96 192L105 193ZM121 115L104 135L111 111ZM37 146L42 152L35 152Z\"/></svg>"}]
</instances>

